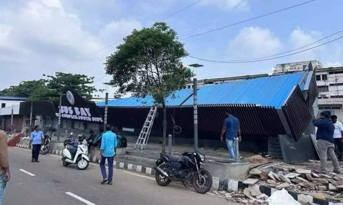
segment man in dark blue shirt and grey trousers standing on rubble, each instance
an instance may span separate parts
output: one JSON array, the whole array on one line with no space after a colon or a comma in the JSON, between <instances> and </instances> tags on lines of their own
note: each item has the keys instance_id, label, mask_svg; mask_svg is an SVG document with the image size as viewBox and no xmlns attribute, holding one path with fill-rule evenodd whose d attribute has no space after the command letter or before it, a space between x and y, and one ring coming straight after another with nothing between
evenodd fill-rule
<instances>
[{"instance_id":1,"label":"man in dark blue shirt and grey trousers standing on rubble","mask_svg":"<svg viewBox=\"0 0 343 205\"><path fill-rule=\"evenodd\" d=\"M320 158L319 172L326 172L327 155L329 155L333 164L333 172L339 174L340 167L334 152L333 133L335 126L329 119L330 114L324 111L319 113L317 118L312 121L313 125L317 127L316 139Z\"/></svg>"}]
</instances>

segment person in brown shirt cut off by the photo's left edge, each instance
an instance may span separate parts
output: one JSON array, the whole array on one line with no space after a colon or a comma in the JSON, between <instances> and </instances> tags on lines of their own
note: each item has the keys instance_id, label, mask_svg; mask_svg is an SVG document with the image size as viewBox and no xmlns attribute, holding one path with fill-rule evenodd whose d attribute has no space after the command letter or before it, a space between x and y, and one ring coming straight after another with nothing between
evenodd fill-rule
<instances>
[{"instance_id":1,"label":"person in brown shirt cut off by the photo's left edge","mask_svg":"<svg viewBox=\"0 0 343 205\"><path fill-rule=\"evenodd\" d=\"M7 153L7 134L2 131L1 123L0 118L0 205L2 205L6 183L11 178Z\"/></svg>"}]
</instances>

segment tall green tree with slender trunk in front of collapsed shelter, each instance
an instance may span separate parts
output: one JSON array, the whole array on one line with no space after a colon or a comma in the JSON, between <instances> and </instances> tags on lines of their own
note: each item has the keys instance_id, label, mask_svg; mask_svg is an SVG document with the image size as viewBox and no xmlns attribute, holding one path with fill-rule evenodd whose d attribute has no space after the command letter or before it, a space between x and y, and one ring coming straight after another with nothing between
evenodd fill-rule
<instances>
[{"instance_id":1,"label":"tall green tree with slender trunk in front of collapsed shelter","mask_svg":"<svg viewBox=\"0 0 343 205\"><path fill-rule=\"evenodd\" d=\"M184 87L193 73L184 67L181 58L188 53L178 40L177 33L166 23L134 29L106 58L105 70L113 76L111 84L118 87L116 97L132 93L138 98L151 95L155 105L163 108L163 142L166 143L166 98Z\"/></svg>"}]
</instances>

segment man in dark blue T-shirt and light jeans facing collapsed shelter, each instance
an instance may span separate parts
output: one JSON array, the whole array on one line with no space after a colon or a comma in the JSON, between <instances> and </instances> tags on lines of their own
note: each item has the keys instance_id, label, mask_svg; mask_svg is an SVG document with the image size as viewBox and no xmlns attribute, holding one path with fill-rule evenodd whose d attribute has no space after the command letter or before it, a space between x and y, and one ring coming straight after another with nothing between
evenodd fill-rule
<instances>
[{"instance_id":1,"label":"man in dark blue T-shirt and light jeans facing collapsed shelter","mask_svg":"<svg viewBox=\"0 0 343 205\"><path fill-rule=\"evenodd\" d=\"M222 134L220 135L220 140L224 141L224 134L226 133L226 146L230 152L230 158L233 160L238 160L238 150L235 149L235 141L241 141L239 120L230 114L230 110L225 111L227 118L224 120ZM237 142L238 143L238 142Z\"/></svg>"}]
</instances>

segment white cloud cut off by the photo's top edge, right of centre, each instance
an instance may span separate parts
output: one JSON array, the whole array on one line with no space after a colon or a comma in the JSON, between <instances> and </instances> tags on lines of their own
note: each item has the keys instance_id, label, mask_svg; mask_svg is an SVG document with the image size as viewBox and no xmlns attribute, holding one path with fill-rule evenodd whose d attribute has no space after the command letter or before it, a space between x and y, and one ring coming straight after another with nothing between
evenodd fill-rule
<instances>
[{"instance_id":1,"label":"white cloud cut off by the photo's top edge, right of centre","mask_svg":"<svg viewBox=\"0 0 343 205\"><path fill-rule=\"evenodd\" d=\"M238 11L249 11L250 0L204 0L202 1L205 5L216 6L222 10L238 10Z\"/></svg>"}]
</instances>

